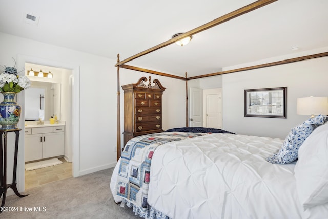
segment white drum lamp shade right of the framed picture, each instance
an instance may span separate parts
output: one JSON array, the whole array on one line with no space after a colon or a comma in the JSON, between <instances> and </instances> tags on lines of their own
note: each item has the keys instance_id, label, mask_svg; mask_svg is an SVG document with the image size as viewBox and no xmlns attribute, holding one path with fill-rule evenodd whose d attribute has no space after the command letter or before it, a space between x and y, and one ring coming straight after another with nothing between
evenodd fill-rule
<instances>
[{"instance_id":1,"label":"white drum lamp shade right of the framed picture","mask_svg":"<svg viewBox=\"0 0 328 219\"><path fill-rule=\"evenodd\" d=\"M304 97L297 99L298 115L328 115L328 97Z\"/></svg>"}]
</instances>

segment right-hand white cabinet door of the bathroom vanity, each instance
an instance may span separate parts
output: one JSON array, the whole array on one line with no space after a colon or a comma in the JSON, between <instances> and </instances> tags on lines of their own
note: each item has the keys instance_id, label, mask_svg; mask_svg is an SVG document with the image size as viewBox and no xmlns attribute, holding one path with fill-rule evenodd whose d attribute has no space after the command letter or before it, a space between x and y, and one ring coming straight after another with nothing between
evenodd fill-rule
<instances>
[{"instance_id":1,"label":"right-hand white cabinet door of the bathroom vanity","mask_svg":"<svg viewBox=\"0 0 328 219\"><path fill-rule=\"evenodd\" d=\"M43 158L64 155L64 132L43 134Z\"/></svg>"}]
</instances>

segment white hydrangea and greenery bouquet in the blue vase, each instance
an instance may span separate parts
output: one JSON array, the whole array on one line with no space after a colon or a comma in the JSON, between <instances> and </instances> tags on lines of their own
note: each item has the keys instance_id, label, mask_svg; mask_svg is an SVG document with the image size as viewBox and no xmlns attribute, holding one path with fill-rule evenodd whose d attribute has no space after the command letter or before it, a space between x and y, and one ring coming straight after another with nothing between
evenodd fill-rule
<instances>
[{"instance_id":1,"label":"white hydrangea and greenery bouquet in the blue vase","mask_svg":"<svg viewBox=\"0 0 328 219\"><path fill-rule=\"evenodd\" d=\"M5 66L4 69L4 72L0 74L0 92L19 93L31 86L29 78L25 75L17 75L17 69L15 67Z\"/></svg>"}]
</instances>

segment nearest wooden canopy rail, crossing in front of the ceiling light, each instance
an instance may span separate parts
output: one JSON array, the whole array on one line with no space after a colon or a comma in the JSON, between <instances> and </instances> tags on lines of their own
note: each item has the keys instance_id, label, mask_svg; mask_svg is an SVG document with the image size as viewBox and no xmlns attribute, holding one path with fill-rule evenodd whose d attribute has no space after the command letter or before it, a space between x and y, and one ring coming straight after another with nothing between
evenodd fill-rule
<instances>
[{"instance_id":1,"label":"nearest wooden canopy rail, crossing in front of the ceiling light","mask_svg":"<svg viewBox=\"0 0 328 219\"><path fill-rule=\"evenodd\" d=\"M209 28L212 28L212 27L217 26L219 24L222 24L224 22L230 21L233 18L236 18L236 17L238 17L240 15L243 15L245 13L248 13L248 12L254 11L255 9L261 8L261 7L265 6L265 5L268 5L268 4L273 3L273 2L276 2L276 1L277 0L259 0L259 1L256 1L254 3L251 3L251 4L247 5L247 6L244 6L244 7L239 8L239 9L233 11L233 12L230 12L230 13L228 13L226 15L223 15L223 16L221 16L219 18L216 18L216 19L214 19L211 22L208 22L208 23L206 23L204 25L201 25L201 26L199 26L199 27L197 27L195 29L192 29L192 30L190 30L190 31L188 31L186 33L183 33L183 34L178 35L178 36L176 36L176 37L174 37L172 39L169 39L168 41L165 41L165 42L163 42L161 44L158 44L157 46L154 46L154 47L152 47L150 49L147 49L147 50L145 50L143 52L140 52L140 53L138 53L136 55L133 55L133 56L131 56L129 58L126 58L126 59L124 59L124 60L122 60L120 62L117 62L115 66L116 67L117 66L121 66L122 64L127 63L127 62L130 62L133 59L136 59L138 57L144 56L144 55L146 55L148 53L151 53L151 52L156 51L156 50L158 50L160 48L166 47L166 46L168 46L170 44L173 44L176 41L179 41L180 39L183 39L183 38L185 38L187 36L192 36L192 35L194 35L196 33L202 32L204 30L207 30Z\"/></svg>"}]
</instances>

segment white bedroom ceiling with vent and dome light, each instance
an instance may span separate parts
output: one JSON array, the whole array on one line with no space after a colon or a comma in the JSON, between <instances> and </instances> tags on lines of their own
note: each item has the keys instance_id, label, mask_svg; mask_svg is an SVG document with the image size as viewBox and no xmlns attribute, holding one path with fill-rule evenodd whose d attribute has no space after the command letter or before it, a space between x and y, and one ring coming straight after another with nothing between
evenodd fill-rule
<instances>
[{"instance_id":1,"label":"white bedroom ceiling with vent and dome light","mask_svg":"<svg viewBox=\"0 0 328 219\"><path fill-rule=\"evenodd\" d=\"M252 0L0 0L0 31L116 60L126 59ZM328 46L327 0L278 0L127 65L195 76ZM26 14L39 18L26 23ZM113 66L114 67L114 66Z\"/></svg>"}]
</instances>

